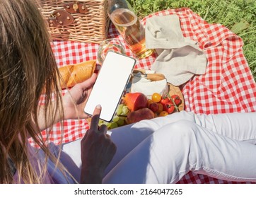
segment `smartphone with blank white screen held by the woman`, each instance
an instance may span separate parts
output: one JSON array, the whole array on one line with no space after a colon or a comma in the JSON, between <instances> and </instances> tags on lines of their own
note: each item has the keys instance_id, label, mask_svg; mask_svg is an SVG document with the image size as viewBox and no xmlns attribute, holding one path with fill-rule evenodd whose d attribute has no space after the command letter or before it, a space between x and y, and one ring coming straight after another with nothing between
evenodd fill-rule
<instances>
[{"instance_id":1,"label":"smartphone with blank white screen held by the woman","mask_svg":"<svg viewBox=\"0 0 256 198\"><path fill-rule=\"evenodd\" d=\"M135 64L136 59L132 57L117 52L107 52L84 112L93 115L95 107L101 105L100 119L110 122L122 99Z\"/></svg>"}]
</instances>

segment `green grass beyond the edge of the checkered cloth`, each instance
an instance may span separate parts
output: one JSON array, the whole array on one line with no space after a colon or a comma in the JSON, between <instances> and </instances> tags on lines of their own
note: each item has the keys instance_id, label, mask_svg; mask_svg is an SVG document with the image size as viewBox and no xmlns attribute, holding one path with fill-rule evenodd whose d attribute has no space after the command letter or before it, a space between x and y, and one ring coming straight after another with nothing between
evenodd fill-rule
<instances>
[{"instance_id":1,"label":"green grass beyond the edge of the checkered cloth","mask_svg":"<svg viewBox=\"0 0 256 198\"><path fill-rule=\"evenodd\" d=\"M187 7L207 23L221 23L242 37L243 52L256 80L255 0L127 0L139 18L169 8Z\"/></svg>"}]
</instances>

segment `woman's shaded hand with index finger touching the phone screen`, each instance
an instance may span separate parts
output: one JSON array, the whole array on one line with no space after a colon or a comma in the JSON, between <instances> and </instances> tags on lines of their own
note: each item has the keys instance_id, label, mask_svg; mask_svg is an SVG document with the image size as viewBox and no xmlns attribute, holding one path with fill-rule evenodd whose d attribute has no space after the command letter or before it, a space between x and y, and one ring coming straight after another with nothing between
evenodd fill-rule
<instances>
[{"instance_id":1,"label":"woman's shaded hand with index finger touching the phone screen","mask_svg":"<svg viewBox=\"0 0 256 198\"><path fill-rule=\"evenodd\" d=\"M95 107L88 129L81 141L81 183L101 183L105 168L116 152L116 146L107 134L107 126L98 127L101 107Z\"/></svg>"}]
</instances>

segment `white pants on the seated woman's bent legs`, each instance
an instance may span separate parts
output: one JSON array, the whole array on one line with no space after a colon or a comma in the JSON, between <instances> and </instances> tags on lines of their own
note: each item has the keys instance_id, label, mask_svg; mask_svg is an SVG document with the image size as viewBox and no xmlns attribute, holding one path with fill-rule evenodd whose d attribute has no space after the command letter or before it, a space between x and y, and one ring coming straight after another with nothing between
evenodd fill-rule
<instances>
[{"instance_id":1,"label":"white pants on the seated woman's bent legs","mask_svg":"<svg viewBox=\"0 0 256 198\"><path fill-rule=\"evenodd\" d=\"M190 170L221 180L256 181L256 112L182 111L109 134L117 153L104 183L175 183ZM81 164L79 141L63 149Z\"/></svg>"}]
</instances>

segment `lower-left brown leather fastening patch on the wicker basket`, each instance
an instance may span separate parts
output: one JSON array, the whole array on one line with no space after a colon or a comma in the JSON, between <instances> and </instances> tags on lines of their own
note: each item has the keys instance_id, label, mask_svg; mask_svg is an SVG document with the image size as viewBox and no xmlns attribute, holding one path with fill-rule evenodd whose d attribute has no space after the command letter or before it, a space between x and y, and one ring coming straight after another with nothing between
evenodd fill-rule
<instances>
[{"instance_id":1,"label":"lower-left brown leather fastening patch on the wicker basket","mask_svg":"<svg viewBox=\"0 0 256 198\"><path fill-rule=\"evenodd\" d=\"M48 18L50 27L67 26L74 22L74 17L65 10L54 11Z\"/></svg>"}]
</instances>

